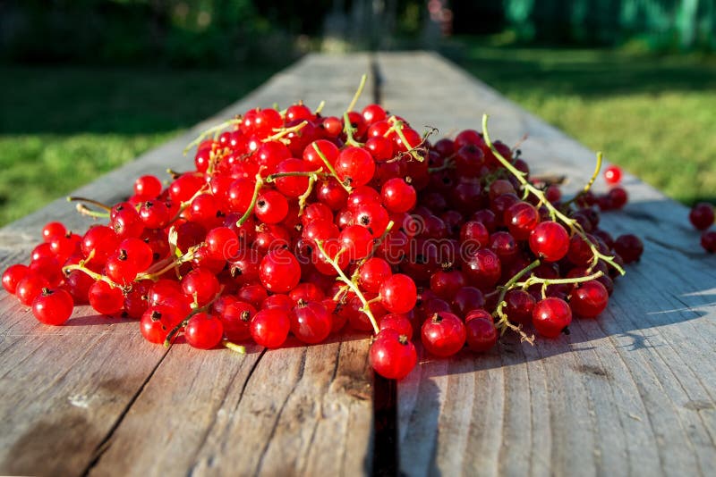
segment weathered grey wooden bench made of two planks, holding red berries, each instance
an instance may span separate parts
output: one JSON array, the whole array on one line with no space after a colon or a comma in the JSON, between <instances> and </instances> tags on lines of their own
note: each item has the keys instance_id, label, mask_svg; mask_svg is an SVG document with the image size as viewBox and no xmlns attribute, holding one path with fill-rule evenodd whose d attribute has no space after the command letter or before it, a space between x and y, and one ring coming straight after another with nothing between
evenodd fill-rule
<instances>
[{"instance_id":1,"label":"weathered grey wooden bench made of two planks, holding red berries","mask_svg":"<svg viewBox=\"0 0 716 477\"><path fill-rule=\"evenodd\" d=\"M592 151L438 55L315 54L77 194L117 201L141 173L188 167L198 131L250 107L325 100L339 113L363 72L361 107L380 101L443 135L479 130L490 113L494 138L529 135L533 172L567 175L567 191L592 172ZM89 309L41 325L0 292L0 473L712 475L716 260L686 207L625 183L626 209L602 221L637 233L645 252L598 320L534 346L507 337L485 356L422 354L397 385L373 378L362 337L245 356L167 350ZM26 262L50 220L90 223L58 199L0 229L0 269Z\"/></svg>"}]
</instances>

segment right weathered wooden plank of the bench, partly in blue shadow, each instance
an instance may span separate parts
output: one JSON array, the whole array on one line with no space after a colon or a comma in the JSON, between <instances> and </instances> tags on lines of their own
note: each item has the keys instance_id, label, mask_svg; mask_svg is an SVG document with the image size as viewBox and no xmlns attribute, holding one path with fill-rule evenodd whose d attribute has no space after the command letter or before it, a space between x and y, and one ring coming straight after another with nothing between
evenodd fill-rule
<instances>
[{"instance_id":1,"label":"right weathered wooden plank of the bench, partly in blue shadow","mask_svg":"<svg viewBox=\"0 0 716 477\"><path fill-rule=\"evenodd\" d=\"M433 54L379 54L388 109L443 134L481 130L521 146L533 172L574 192L594 153ZM635 131L638 133L638 131ZM608 157L609 155L607 155ZM398 386L407 475L709 475L716 468L716 257L687 209L632 176L613 234L644 239L597 320L534 347L507 337L485 356L420 365ZM598 181L596 187L605 185Z\"/></svg>"}]
</instances>

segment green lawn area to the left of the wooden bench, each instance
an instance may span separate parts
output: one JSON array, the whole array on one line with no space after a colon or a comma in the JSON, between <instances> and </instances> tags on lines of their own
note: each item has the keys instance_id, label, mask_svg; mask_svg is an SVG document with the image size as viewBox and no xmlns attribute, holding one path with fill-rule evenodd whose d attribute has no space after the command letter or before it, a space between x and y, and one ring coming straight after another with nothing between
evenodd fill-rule
<instances>
[{"instance_id":1,"label":"green lawn area to the left of the wooden bench","mask_svg":"<svg viewBox=\"0 0 716 477\"><path fill-rule=\"evenodd\" d=\"M0 67L0 225L166 142L274 71Z\"/></svg>"}]
</instances>

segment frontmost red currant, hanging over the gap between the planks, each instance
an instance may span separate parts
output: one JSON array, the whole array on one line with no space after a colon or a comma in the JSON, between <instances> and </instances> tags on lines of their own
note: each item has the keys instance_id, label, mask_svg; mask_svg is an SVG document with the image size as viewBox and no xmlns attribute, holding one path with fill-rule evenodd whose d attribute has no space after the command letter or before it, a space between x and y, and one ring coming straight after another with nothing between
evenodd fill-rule
<instances>
[{"instance_id":1,"label":"frontmost red currant, hanging over the gap between the planks","mask_svg":"<svg viewBox=\"0 0 716 477\"><path fill-rule=\"evenodd\" d=\"M415 346L407 336L396 331L380 331L371 345L371 367L384 378L402 380L418 362Z\"/></svg>"}]
</instances>

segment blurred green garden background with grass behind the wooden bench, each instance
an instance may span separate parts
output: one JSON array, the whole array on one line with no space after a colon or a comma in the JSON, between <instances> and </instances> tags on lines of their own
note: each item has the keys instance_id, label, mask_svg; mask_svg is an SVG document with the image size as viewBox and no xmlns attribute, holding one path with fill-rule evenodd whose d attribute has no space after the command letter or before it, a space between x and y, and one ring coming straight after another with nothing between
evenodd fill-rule
<instances>
[{"instance_id":1,"label":"blurred green garden background with grass behind the wooden bench","mask_svg":"<svg viewBox=\"0 0 716 477\"><path fill-rule=\"evenodd\" d=\"M714 202L715 4L0 0L0 224L302 54L362 49L438 50L670 197Z\"/></svg>"}]
</instances>

